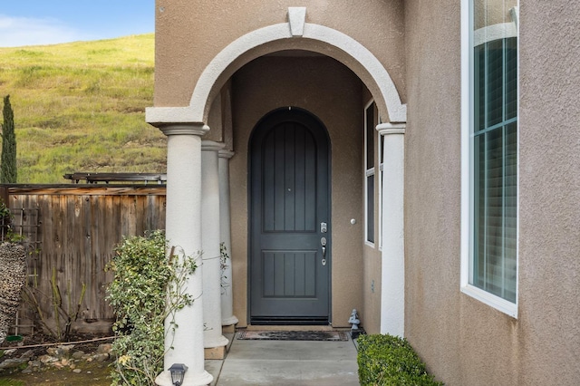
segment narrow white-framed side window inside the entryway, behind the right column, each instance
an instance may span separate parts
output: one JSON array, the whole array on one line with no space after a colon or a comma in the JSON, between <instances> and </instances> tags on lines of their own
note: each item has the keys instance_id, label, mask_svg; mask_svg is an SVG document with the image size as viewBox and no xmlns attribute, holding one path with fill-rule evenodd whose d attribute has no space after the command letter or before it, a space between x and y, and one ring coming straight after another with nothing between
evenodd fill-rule
<instances>
[{"instance_id":1,"label":"narrow white-framed side window inside the entryway, behind the right column","mask_svg":"<svg viewBox=\"0 0 580 386\"><path fill-rule=\"evenodd\" d=\"M374 245L374 133L376 105L371 101L364 108L364 189L365 189L365 240Z\"/></svg>"}]
</instances>

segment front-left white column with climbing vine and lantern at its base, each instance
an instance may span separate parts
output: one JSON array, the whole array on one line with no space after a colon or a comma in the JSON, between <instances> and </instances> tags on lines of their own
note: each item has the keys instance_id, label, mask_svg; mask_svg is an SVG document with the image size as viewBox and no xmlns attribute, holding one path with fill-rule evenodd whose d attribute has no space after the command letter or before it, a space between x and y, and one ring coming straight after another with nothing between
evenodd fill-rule
<instances>
[{"instance_id":1,"label":"front-left white column with climbing vine and lantern at its base","mask_svg":"<svg viewBox=\"0 0 580 386\"><path fill-rule=\"evenodd\" d=\"M176 246L185 256L201 251L201 135L208 127L202 124L170 124L160 127L168 136L166 236L169 246ZM172 386L168 372L173 363L184 363L189 370L184 384L207 385L213 381L204 370L203 347L203 266L189 276L185 291L194 300L178 310L175 319L165 322L164 372L155 382ZM173 330L175 322L178 327Z\"/></svg>"}]
</instances>

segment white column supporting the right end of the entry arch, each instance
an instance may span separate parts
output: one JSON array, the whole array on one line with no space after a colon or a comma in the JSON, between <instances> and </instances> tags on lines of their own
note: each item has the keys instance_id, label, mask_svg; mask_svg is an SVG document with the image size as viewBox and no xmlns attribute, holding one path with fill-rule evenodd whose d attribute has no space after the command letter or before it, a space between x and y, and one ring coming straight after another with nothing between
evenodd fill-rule
<instances>
[{"instance_id":1,"label":"white column supporting the right end of the entry arch","mask_svg":"<svg viewBox=\"0 0 580 386\"><path fill-rule=\"evenodd\" d=\"M406 123L382 123L381 333L404 336L405 239L404 146Z\"/></svg>"}]
</instances>

